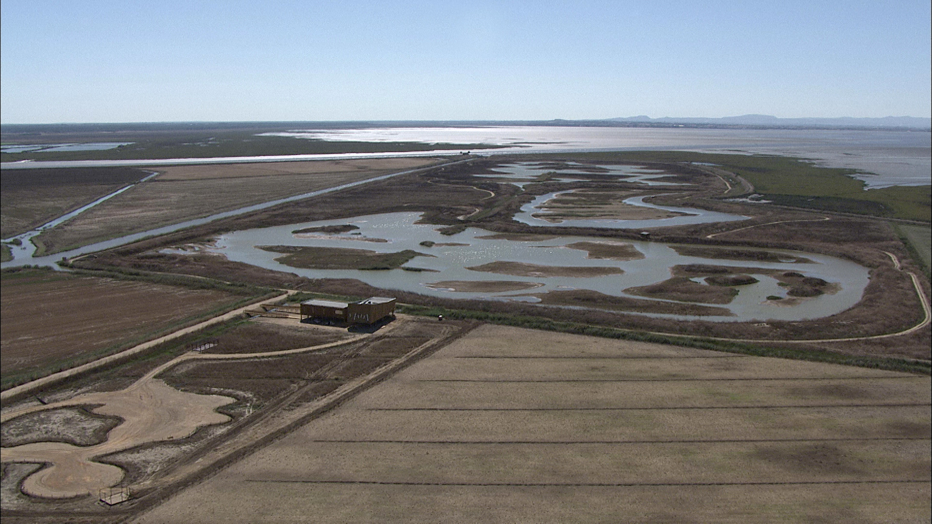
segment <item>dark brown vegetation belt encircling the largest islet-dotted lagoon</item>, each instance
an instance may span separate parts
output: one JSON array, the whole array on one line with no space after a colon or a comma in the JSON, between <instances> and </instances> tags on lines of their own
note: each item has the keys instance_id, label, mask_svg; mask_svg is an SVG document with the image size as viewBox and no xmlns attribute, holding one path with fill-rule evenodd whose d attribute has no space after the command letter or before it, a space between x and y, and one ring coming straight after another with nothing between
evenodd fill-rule
<instances>
[{"instance_id":1,"label":"dark brown vegetation belt encircling the largest islet-dotted lagoon","mask_svg":"<svg viewBox=\"0 0 932 524\"><path fill-rule=\"evenodd\" d=\"M493 165L494 163L490 160L479 160L472 165L458 164L437 168L423 175L403 175L395 177L391 181L375 182L363 187L351 188L314 199L284 204L255 214L218 221L160 239L137 242L133 245L96 255L96 259L83 260L80 264L90 267L119 267L195 274L223 280L262 283L342 296L364 297L391 294L392 296L398 296L400 301L426 306L443 306L450 309L478 310L489 313L513 313L559 321L609 325L672 334L773 339L774 343L780 339L850 338L879 335L905 329L922 320L922 308L912 289L909 277L903 272L893 269L889 258L884 255L883 251L897 255L906 269L920 273L921 269L911 263L909 253L888 225L872 219L839 216L831 216L829 220L826 220L826 214L788 211L766 205L748 205L705 199L701 197L703 191L707 191L708 194L719 195L724 190L724 186L718 177L710 177L701 172L692 172L675 164L656 167L669 171L688 172L684 176L687 176L692 183L697 184L696 195L700 196L692 196L685 200L682 200L681 197L678 197L680 200L671 198L668 201L662 197L657 197L653 201L701 207L722 213L746 214L751 215L752 218L739 222L677 228L653 228L651 229L651 241L690 243L710 248L752 247L761 250L801 250L841 256L870 269L870 283L861 302L850 310L812 321L768 323L693 321L682 323L667 319L627 315L608 310L559 310L539 308L526 303L502 304L420 296L413 293L379 290L358 281L306 279L293 273L260 269L230 262L218 256L158 255L152 253L164 246L211 238L212 235L228 230L401 211L422 212L425 215L425 220L435 224L461 225L464 221L458 220L458 216L473 213L476 209L483 209L485 210L483 214L486 211L488 212L485 216L477 214L466 220L466 222L470 225L494 231L492 233L494 236L510 238L514 241L539 241L541 235L545 237L570 235L600 237L616 244L622 244L625 240L639 239L637 234L639 231L637 230L533 228L510 221L511 214L520 207L522 202L533 198L534 194L546 192L547 187L535 189L533 186L547 186L547 184L526 186L530 191L517 198L517 187L515 186L498 184L489 179L478 179L472 176L472 173L484 172ZM478 188L495 191L496 197L489 198L488 191L478 190ZM549 190L560 188L566 188L566 186L551 187ZM503 216L509 218L502 218ZM774 221L781 221L781 223L769 225L770 222ZM706 238L707 235L716 236L708 239ZM601 242L596 241L595 243L600 244ZM621 255L634 255L633 251L636 250L628 248L626 253ZM924 285L926 286L926 292L928 292L928 284L924 283ZM584 304L577 305L585 307ZM596 302L590 302L589 307L597 307ZM879 354L897 354L926 360L929 358L928 335L925 335L925 340L919 336L898 339L901 340L901 344L887 344L881 340L864 340L838 343L829 347L837 348L837 351L854 354L870 354L870 348L876 347Z\"/></svg>"}]
</instances>

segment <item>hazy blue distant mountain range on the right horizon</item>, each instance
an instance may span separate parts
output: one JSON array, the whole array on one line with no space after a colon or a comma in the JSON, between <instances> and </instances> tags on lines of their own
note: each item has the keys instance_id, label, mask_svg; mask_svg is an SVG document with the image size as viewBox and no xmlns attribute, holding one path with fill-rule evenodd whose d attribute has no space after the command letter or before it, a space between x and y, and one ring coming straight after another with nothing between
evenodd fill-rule
<instances>
[{"instance_id":1,"label":"hazy blue distant mountain range on the right horizon","mask_svg":"<svg viewBox=\"0 0 932 524\"><path fill-rule=\"evenodd\" d=\"M694 117L662 117L651 118L644 115L638 117L608 118L611 122L620 124L688 124L688 125L721 125L721 126L766 126L766 127L813 127L813 128L911 128L927 130L932 128L932 118L920 117L883 117L883 118L778 118L771 115L742 115L741 117L722 118L694 118Z\"/></svg>"}]
</instances>

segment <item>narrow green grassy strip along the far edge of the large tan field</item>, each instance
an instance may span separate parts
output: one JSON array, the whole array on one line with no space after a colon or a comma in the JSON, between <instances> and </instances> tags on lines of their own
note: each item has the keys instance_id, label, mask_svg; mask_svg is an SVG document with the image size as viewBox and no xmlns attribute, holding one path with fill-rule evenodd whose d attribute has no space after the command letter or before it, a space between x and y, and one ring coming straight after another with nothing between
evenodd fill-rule
<instances>
[{"instance_id":1,"label":"narrow green grassy strip along the far edge of the large tan field","mask_svg":"<svg viewBox=\"0 0 932 524\"><path fill-rule=\"evenodd\" d=\"M638 342L652 342L655 344L670 344L715 352L740 353L754 356L767 356L786 358L791 360L805 360L827 364L856 365L889 371L903 371L921 375L932 374L929 363L916 362L899 358L862 357L845 355L836 352L797 350L793 348L766 347L747 342L731 342L714 340L710 338L684 338L675 335L660 335L643 331L632 331L591 324L571 322L557 322L541 317L511 315L505 313L488 313L472 310L447 310L445 308L401 305L398 312L409 315L437 316L444 315L448 319L478 320L489 324L512 325L528 329L541 329L557 333L570 333L573 335L587 335L590 337L618 338L623 340L637 340Z\"/></svg>"}]
</instances>

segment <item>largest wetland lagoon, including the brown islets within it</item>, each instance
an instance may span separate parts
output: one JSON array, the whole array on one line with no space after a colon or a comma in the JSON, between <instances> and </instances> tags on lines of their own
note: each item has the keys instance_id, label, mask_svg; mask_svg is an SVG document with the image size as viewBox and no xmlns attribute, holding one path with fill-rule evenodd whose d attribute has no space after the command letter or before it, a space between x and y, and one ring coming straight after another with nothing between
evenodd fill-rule
<instances>
[{"instance_id":1,"label":"largest wetland lagoon, including the brown islets within it","mask_svg":"<svg viewBox=\"0 0 932 524\"><path fill-rule=\"evenodd\" d=\"M676 276L680 277L679 284L691 288L711 287L707 279L717 272L750 275L753 277L750 280L756 281L729 286L737 293L727 303L720 300L687 303L693 309L692 314L644 313L682 320L815 319L854 306L868 284L868 269L829 255L785 250L767 250L768 255L761 255L764 253L761 250L743 250L749 253L743 256L735 255L733 248L718 255L680 255L678 246L662 242L496 234L481 228L466 228L450 236L439 232L436 225L418 224L419 218L418 213L374 214L246 229L219 236L207 249L232 261L308 278L357 279L379 288L429 296L544 304L555 304L548 298L561 292L588 291L677 306L684 302L646 298L643 293L636 295L637 291L631 288L665 283ZM295 232L302 229L311 231ZM277 249L269 250L270 246ZM310 269L295 267L299 264L294 262L283 263L289 256L282 256L288 252L283 246L295 252L300 251L298 248L343 248L377 254L408 251L416 255L396 269ZM691 268L695 276L689 274ZM826 292L818 296L792 296L783 276L786 274L823 281L827 283Z\"/></svg>"}]
</instances>

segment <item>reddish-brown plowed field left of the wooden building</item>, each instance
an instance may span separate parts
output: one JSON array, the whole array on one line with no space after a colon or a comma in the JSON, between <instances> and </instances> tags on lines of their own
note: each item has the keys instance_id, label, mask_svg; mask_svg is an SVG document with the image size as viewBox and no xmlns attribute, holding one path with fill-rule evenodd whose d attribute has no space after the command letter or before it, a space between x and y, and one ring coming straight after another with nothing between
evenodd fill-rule
<instances>
[{"instance_id":1,"label":"reddish-brown plowed field left of the wooden building","mask_svg":"<svg viewBox=\"0 0 932 524\"><path fill-rule=\"evenodd\" d=\"M4 378L171 328L243 296L154 283L76 277L45 269L4 273ZM53 371L57 371L54 369Z\"/></svg>"}]
</instances>

